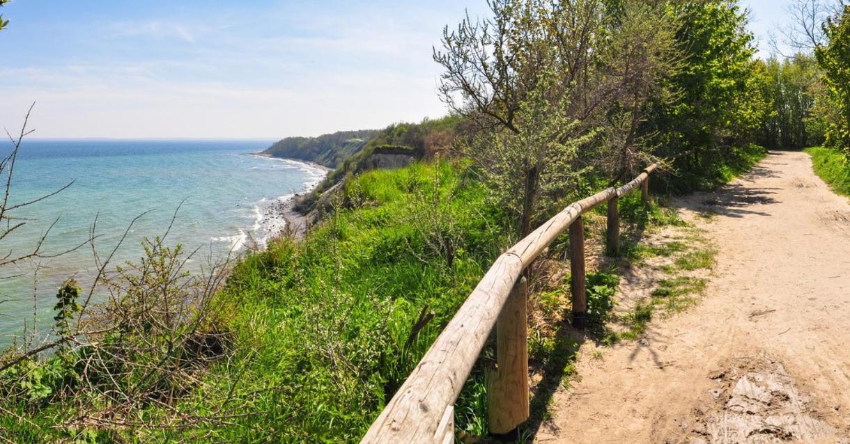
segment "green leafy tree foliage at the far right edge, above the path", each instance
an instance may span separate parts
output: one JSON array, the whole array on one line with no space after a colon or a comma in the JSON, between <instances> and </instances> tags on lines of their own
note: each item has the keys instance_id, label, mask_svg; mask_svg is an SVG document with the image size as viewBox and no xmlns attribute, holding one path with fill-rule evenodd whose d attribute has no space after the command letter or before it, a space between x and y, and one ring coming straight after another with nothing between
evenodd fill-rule
<instances>
[{"instance_id":1,"label":"green leafy tree foliage at the far right edge, above the path","mask_svg":"<svg viewBox=\"0 0 850 444\"><path fill-rule=\"evenodd\" d=\"M824 35L828 42L816 48L814 55L838 111L838 118L827 128L826 144L850 156L850 5L826 20Z\"/></svg>"}]
</instances>

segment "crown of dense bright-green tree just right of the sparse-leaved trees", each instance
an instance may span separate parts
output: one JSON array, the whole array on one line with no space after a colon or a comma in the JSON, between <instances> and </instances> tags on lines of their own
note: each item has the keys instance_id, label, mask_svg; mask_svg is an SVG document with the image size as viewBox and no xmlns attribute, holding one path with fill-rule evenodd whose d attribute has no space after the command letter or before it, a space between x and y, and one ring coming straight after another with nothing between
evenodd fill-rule
<instances>
[{"instance_id":1,"label":"crown of dense bright-green tree just right of the sparse-leaved trees","mask_svg":"<svg viewBox=\"0 0 850 444\"><path fill-rule=\"evenodd\" d=\"M668 81L678 94L655 108L652 129L667 153L719 151L757 130L748 84L754 74L753 37L746 14L728 1L672 3L685 63ZM718 150L719 149L719 150Z\"/></svg>"}]
</instances>

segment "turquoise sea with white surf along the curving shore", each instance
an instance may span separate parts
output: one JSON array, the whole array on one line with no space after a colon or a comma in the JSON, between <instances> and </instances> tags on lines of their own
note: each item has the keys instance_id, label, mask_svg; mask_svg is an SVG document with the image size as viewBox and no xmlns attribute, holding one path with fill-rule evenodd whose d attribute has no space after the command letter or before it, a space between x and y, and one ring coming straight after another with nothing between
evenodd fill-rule
<instances>
[{"instance_id":1,"label":"turquoise sea with white surf along the curving shore","mask_svg":"<svg viewBox=\"0 0 850 444\"><path fill-rule=\"evenodd\" d=\"M2 255L31 250L57 217L44 253L85 242L97 217L95 245L105 255L134 217L150 211L135 222L113 263L136 261L141 240L164 233L181 201L167 244L179 242L186 250L205 247L204 256L245 250L251 239L263 244L284 225L269 216L270 208L325 176L325 171L293 160L248 155L270 142L25 140L14 169L13 204L74 183L48 200L15 211L12 216L26 218L26 225L0 239ZM8 148L3 151L5 155ZM199 256L198 261L204 260ZM40 313L39 326L48 326L59 284L71 276L84 283L95 270L90 246L0 268L0 301L5 300L0 303L0 345L20 334L25 322L31 325L34 311Z\"/></svg>"}]
</instances>

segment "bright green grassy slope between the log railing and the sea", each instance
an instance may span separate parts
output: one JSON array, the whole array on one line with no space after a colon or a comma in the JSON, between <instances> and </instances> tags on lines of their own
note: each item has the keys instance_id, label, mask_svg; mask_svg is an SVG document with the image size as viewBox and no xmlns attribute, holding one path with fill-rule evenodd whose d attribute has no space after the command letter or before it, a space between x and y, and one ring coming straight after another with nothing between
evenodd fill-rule
<instances>
[{"instance_id":1,"label":"bright green grassy slope between the log railing and the sea","mask_svg":"<svg viewBox=\"0 0 850 444\"><path fill-rule=\"evenodd\" d=\"M499 217L463 171L439 163L368 172L348 186L352 208L301 243L241 262L220 307L241 351L217 371L239 375L245 404L235 413L256 414L197 433L359 440L498 253ZM438 233L458 245L451 266L429 246ZM405 347L424 307L434 318ZM229 390L207 385L198 404Z\"/></svg>"}]
</instances>

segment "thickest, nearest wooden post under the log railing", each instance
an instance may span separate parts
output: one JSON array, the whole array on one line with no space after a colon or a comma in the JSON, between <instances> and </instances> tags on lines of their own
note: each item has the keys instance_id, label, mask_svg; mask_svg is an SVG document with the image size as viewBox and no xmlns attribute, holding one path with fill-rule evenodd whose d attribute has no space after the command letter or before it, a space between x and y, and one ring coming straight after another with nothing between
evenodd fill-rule
<instances>
[{"instance_id":1,"label":"thickest, nearest wooden post under the log railing","mask_svg":"<svg viewBox=\"0 0 850 444\"><path fill-rule=\"evenodd\" d=\"M490 434L508 435L529 419L528 285L513 285L496 321L496 371L487 378Z\"/></svg>"}]
</instances>

